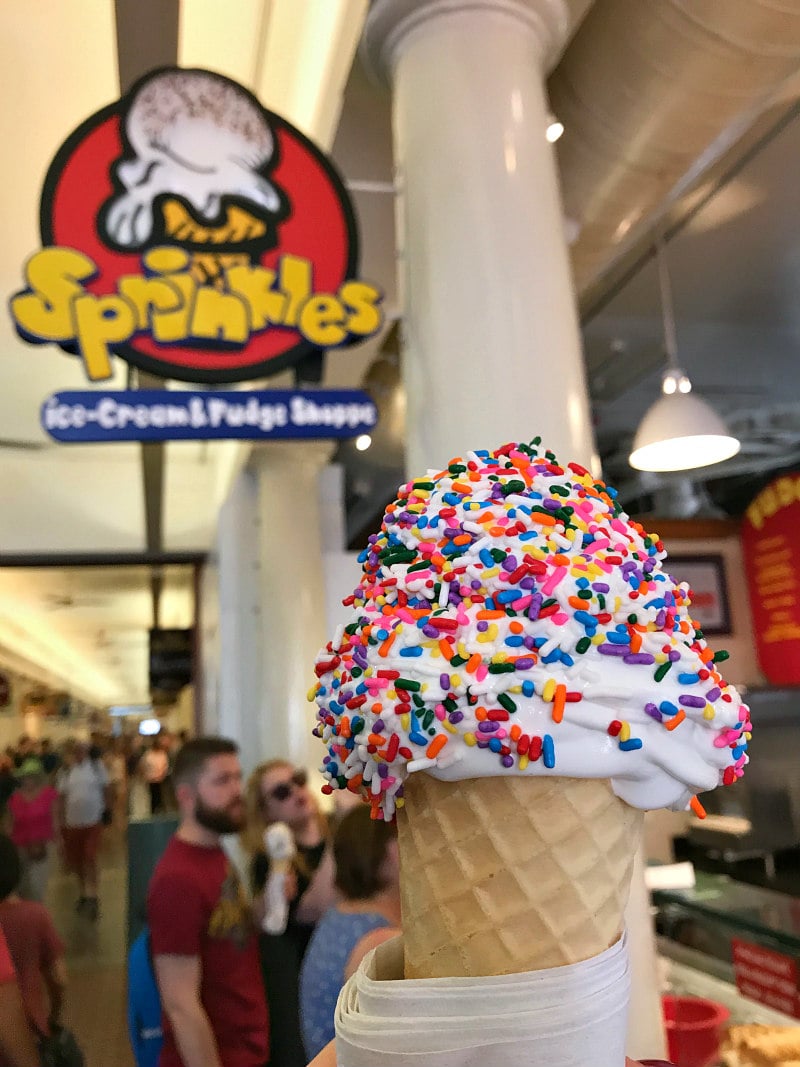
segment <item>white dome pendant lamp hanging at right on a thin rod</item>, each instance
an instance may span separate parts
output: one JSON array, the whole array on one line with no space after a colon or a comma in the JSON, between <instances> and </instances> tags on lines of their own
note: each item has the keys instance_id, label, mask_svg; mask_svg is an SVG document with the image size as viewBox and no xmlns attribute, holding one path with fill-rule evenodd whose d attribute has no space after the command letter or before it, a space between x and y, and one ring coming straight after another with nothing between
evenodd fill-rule
<instances>
[{"instance_id":1,"label":"white dome pendant lamp hanging at right on a thin rod","mask_svg":"<svg viewBox=\"0 0 800 1067\"><path fill-rule=\"evenodd\" d=\"M661 396L641 420L628 462L637 471L691 471L731 459L740 445L717 412L692 393L691 381L678 365L672 290L660 241L656 262L667 369Z\"/></svg>"}]
</instances>

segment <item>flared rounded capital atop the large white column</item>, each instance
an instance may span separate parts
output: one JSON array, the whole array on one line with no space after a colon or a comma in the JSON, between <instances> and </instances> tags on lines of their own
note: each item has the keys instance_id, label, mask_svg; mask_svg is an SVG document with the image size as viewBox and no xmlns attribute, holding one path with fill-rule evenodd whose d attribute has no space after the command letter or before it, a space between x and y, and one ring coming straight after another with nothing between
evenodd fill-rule
<instances>
[{"instance_id":1,"label":"flared rounded capital atop the large white column","mask_svg":"<svg viewBox=\"0 0 800 1067\"><path fill-rule=\"evenodd\" d=\"M540 46L543 74L560 55L572 22L566 0L374 0L367 16L362 55L373 75L389 81L397 49L409 34L448 16L479 19L486 14L514 18L532 32Z\"/></svg>"}]
</instances>

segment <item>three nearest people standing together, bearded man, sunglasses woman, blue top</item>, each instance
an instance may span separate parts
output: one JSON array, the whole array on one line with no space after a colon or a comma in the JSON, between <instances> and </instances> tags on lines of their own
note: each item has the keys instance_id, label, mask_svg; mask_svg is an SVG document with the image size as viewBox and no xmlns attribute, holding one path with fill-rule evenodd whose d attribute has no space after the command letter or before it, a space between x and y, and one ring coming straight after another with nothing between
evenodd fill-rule
<instances>
[{"instance_id":1,"label":"three nearest people standing together, bearded man, sunglasses woman, blue top","mask_svg":"<svg viewBox=\"0 0 800 1067\"><path fill-rule=\"evenodd\" d=\"M399 930L394 829L362 806L323 815L305 773L284 760L243 783L224 738L187 744L172 777L180 822L147 902L164 1021L158 1063L303 1067L333 1039L341 986ZM276 824L291 838L288 865L270 855ZM225 845L233 834L243 877ZM282 928L267 931L275 878L287 907Z\"/></svg>"}]
</instances>

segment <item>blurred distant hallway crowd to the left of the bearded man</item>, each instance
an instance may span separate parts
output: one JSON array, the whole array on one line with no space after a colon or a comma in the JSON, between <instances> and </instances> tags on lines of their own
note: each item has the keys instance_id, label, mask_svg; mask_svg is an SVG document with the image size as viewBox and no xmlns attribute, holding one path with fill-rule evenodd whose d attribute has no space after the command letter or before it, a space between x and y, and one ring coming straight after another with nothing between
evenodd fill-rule
<instances>
[{"instance_id":1,"label":"blurred distant hallway crowd to the left of the bearded man","mask_svg":"<svg viewBox=\"0 0 800 1067\"><path fill-rule=\"evenodd\" d=\"M47 1042L59 1035L63 1045L66 967L45 903L51 873L60 864L74 876L76 911L96 922L103 828L122 831L132 808L138 817L174 809L170 774L185 742L166 732L149 740L93 733L55 746L23 735L0 754L0 969L7 960L18 989L16 998L0 991L0 1067L50 1063ZM12 1028L15 1013L25 1023ZM2 1034L20 1048L6 1048Z\"/></svg>"}]
</instances>

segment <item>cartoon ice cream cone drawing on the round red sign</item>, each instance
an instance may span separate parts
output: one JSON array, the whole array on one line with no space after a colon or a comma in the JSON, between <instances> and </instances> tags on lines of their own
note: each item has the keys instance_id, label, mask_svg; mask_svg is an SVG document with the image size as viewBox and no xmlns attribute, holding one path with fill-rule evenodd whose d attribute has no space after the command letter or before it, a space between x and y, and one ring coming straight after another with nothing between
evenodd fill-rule
<instances>
[{"instance_id":1,"label":"cartoon ice cream cone drawing on the round red sign","mask_svg":"<svg viewBox=\"0 0 800 1067\"><path fill-rule=\"evenodd\" d=\"M134 94L125 138L130 152L113 166L122 188L100 216L109 244L141 250L175 239L198 250L198 281L207 281L218 276L203 258L209 245L274 243L286 213L266 177L275 139L238 85L202 70L158 74Z\"/></svg>"}]
</instances>

